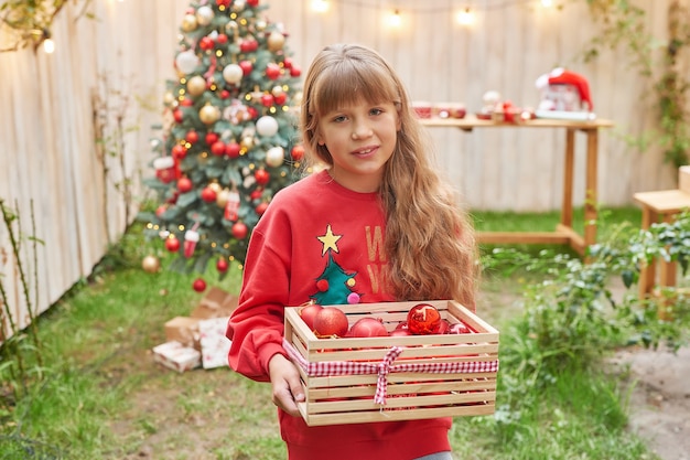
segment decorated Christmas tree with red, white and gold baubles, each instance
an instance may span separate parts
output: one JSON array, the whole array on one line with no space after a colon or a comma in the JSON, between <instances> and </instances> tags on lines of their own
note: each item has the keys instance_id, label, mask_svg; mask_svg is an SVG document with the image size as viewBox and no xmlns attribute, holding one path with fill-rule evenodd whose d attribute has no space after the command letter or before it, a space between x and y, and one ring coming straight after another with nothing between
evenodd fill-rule
<instances>
[{"instance_id":1,"label":"decorated Christmas tree with red, white and gold baubles","mask_svg":"<svg viewBox=\"0 0 690 460\"><path fill-rule=\"evenodd\" d=\"M182 19L177 77L168 82L162 137L151 142L155 175L145 181L159 205L140 216L147 235L176 254L177 271L203 274L212 263L223 278L233 263L241 269L266 206L299 176L301 71L259 3L201 0Z\"/></svg>"}]
</instances>

